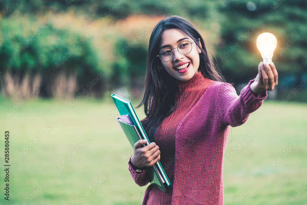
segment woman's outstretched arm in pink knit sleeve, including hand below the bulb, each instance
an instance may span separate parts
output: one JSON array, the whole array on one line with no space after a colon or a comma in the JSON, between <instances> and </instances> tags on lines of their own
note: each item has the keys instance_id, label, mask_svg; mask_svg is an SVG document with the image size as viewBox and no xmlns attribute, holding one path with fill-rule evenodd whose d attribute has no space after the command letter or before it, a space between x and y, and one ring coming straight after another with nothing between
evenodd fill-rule
<instances>
[{"instance_id":1,"label":"woman's outstretched arm in pink knit sleeve, including hand below the bulb","mask_svg":"<svg viewBox=\"0 0 307 205\"><path fill-rule=\"evenodd\" d=\"M278 85L278 73L274 63L258 65L257 76L244 86L240 96L228 83L221 83L218 88L218 110L221 120L232 127L243 124L249 114L258 109L267 97L267 90Z\"/></svg>"}]
</instances>

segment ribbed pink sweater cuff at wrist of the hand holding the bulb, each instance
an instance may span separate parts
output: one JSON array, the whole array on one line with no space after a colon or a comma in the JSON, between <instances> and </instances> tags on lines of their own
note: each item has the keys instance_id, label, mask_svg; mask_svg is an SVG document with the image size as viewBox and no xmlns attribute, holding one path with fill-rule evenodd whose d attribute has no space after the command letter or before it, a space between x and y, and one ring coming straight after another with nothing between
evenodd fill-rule
<instances>
[{"instance_id":1,"label":"ribbed pink sweater cuff at wrist of the hand holding the bulb","mask_svg":"<svg viewBox=\"0 0 307 205\"><path fill-rule=\"evenodd\" d=\"M242 96L243 101L245 104L254 104L259 101L263 101L268 96L267 90L262 91L260 93L254 93L251 90L251 84L255 81L255 78L250 80L248 84L242 89L240 95Z\"/></svg>"}]
</instances>

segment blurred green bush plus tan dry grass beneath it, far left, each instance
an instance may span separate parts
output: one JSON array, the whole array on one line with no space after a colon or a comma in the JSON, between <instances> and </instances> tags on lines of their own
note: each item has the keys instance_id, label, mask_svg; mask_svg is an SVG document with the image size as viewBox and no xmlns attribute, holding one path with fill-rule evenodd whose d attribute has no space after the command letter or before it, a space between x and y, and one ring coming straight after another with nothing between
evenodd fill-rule
<instances>
[{"instance_id":1,"label":"blurred green bush plus tan dry grass beneath it, far left","mask_svg":"<svg viewBox=\"0 0 307 205\"><path fill-rule=\"evenodd\" d=\"M87 34L56 29L49 20L37 22L32 15L3 18L0 28L4 73L0 83L5 95L21 98L36 83L46 96L71 98L78 89L78 77L97 75L97 58Z\"/></svg>"}]
</instances>

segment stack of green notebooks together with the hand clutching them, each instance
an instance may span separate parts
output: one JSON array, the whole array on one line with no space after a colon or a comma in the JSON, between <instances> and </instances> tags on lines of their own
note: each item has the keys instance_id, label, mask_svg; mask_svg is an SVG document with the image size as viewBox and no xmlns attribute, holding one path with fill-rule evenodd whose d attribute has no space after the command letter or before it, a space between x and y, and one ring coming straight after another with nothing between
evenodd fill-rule
<instances>
[{"instance_id":1,"label":"stack of green notebooks together with the hand clutching them","mask_svg":"<svg viewBox=\"0 0 307 205\"><path fill-rule=\"evenodd\" d=\"M131 102L115 93L111 97L121 115L116 118L116 121L126 135L131 147L134 147L134 154L131 156L133 162L130 160L130 164L136 165L134 167L143 166L142 168L147 169L146 176L149 182L165 192L165 186L169 187L171 183L159 161L159 147L154 142L150 143Z\"/></svg>"}]
</instances>

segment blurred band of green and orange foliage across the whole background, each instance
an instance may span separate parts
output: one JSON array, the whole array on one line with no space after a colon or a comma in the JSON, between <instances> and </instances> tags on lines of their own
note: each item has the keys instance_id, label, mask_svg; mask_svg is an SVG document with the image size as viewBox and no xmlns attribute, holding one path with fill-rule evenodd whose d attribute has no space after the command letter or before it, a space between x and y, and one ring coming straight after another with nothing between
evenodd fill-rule
<instances>
[{"instance_id":1,"label":"blurred band of green and orange foliage across the whole background","mask_svg":"<svg viewBox=\"0 0 307 205\"><path fill-rule=\"evenodd\" d=\"M131 15L145 14L162 18L162 15L176 14L191 21L197 29L207 32L203 36L205 42L207 45L213 44L214 48L210 52L216 62L225 68L222 72L228 81L247 82L247 79L257 75L258 63L262 58L256 48L256 39L263 32L273 33L278 40L273 62L280 77L291 74L299 79L307 73L306 1L192 0L187 3L180 0L25 0L10 8L11 4L9 0L0 2L1 71L16 69L47 72L56 71L58 67L77 70L80 81L87 81L81 79L85 73L103 71L111 88L142 84L142 80L136 83L134 77L142 79L144 76L148 39L142 38L133 47L130 46L129 51L126 46L136 39L134 34L138 32L135 30L144 28L138 27L139 22L120 24L122 28L116 24L119 21L129 23L132 21L128 19ZM44 15L48 12L51 15ZM35 33L44 25L41 17L62 12L71 14L63 16L65 26L58 26L58 22L51 23L44 31ZM83 18L83 21L103 27L98 32L92 26L91 35L95 36L78 49L74 45L81 40L84 30L76 28L79 22L75 22L75 25L67 23L75 18ZM84 22L80 22L80 25L85 26ZM128 25L133 28L130 29ZM31 37L35 40L18 55L17 50ZM107 49L103 49L104 46ZM67 57L65 53L71 49L74 53L67 61L56 66L56 63L64 61L63 58Z\"/></svg>"}]
</instances>

